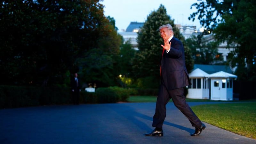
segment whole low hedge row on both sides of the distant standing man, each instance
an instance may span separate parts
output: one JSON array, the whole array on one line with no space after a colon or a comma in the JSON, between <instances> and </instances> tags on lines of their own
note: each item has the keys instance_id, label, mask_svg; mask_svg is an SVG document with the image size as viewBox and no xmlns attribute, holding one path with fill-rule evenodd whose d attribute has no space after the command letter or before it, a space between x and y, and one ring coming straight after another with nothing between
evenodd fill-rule
<instances>
[{"instance_id":1,"label":"whole low hedge row on both sides of the distant standing man","mask_svg":"<svg viewBox=\"0 0 256 144\"><path fill-rule=\"evenodd\" d=\"M79 103L116 103L130 95L157 95L158 89L102 87L95 92L80 92ZM0 108L73 104L69 87L0 85Z\"/></svg>"}]
</instances>

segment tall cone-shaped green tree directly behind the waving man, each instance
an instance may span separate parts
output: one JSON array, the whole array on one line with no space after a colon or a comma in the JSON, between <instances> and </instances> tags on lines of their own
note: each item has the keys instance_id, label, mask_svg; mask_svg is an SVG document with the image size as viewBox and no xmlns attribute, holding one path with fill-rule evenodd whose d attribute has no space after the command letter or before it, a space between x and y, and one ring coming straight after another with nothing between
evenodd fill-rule
<instances>
[{"instance_id":1,"label":"tall cone-shaped green tree directly behind the waving man","mask_svg":"<svg viewBox=\"0 0 256 144\"><path fill-rule=\"evenodd\" d=\"M179 38L184 42L184 37L180 34L179 29L175 27L174 20L171 19L166 13L164 5L160 5L156 11L151 12L147 20L144 23L144 26L138 32L137 42L139 52L135 55L133 69L136 71L135 77L137 78L147 78L151 79L150 87L158 87L159 85L159 66L162 54L163 40L159 34L158 28L164 24L171 24L174 31L174 36ZM185 46L185 49L188 49ZM185 52L190 52L186 50ZM185 53L186 59L189 64L193 62L192 57L188 58L187 53ZM190 65L190 64L189 64ZM188 68L193 68L192 65Z\"/></svg>"}]
</instances>

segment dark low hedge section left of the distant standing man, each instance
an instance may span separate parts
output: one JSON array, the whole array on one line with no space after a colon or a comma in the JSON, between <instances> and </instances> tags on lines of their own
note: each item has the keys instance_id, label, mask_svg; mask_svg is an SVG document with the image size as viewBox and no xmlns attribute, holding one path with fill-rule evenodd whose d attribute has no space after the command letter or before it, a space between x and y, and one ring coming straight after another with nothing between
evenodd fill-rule
<instances>
[{"instance_id":1,"label":"dark low hedge section left of the distant standing man","mask_svg":"<svg viewBox=\"0 0 256 144\"><path fill-rule=\"evenodd\" d=\"M69 88L0 85L0 108L67 104Z\"/></svg>"}]
</instances>

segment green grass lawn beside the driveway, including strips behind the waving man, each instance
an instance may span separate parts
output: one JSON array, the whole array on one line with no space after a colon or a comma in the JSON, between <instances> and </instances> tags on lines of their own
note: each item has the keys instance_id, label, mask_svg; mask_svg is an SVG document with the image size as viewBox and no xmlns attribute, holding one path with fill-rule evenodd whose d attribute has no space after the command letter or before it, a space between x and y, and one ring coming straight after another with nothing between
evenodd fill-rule
<instances>
[{"instance_id":1,"label":"green grass lawn beside the driveway, including strips behind the waving man","mask_svg":"<svg viewBox=\"0 0 256 144\"><path fill-rule=\"evenodd\" d=\"M186 99L186 101L214 102L213 100L199 99ZM130 96L128 102L156 102L156 96ZM238 101L233 102L199 105L191 108L200 120L208 124L256 139L256 100L239 101L241 103L235 103Z\"/></svg>"}]
</instances>

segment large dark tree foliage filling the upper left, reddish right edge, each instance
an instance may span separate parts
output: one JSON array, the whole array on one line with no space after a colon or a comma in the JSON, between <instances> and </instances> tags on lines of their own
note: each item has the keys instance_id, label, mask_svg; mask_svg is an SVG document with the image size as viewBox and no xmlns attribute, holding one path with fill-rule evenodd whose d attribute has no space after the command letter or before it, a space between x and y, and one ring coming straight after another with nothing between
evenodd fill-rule
<instances>
[{"instance_id":1,"label":"large dark tree foliage filling the upper left, reddish right edge","mask_svg":"<svg viewBox=\"0 0 256 144\"><path fill-rule=\"evenodd\" d=\"M78 59L95 51L101 61L115 63L120 36L99 1L2 1L1 84L61 84L67 71L88 68Z\"/></svg>"}]
</instances>

